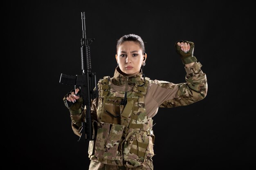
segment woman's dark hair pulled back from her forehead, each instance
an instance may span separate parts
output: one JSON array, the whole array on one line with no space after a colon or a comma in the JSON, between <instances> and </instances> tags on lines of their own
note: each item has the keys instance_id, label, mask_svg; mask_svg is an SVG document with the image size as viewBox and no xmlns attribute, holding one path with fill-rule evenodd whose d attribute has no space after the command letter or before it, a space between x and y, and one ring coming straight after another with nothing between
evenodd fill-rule
<instances>
[{"instance_id":1,"label":"woman's dark hair pulled back from her forehead","mask_svg":"<svg viewBox=\"0 0 256 170\"><path fill-rule=\"evenodd\" d=\"M139 35L135 35L135 34L128 34L128 35L124 35L121 38L119 38L119 40L117 40L117 49L118 47L126 41L133 41L133 42L137 42L139 44L139 46L142 49L142 53L145 53L145 45L143 40L141 39L141 37Z\"/></svg>"}]
</instances>

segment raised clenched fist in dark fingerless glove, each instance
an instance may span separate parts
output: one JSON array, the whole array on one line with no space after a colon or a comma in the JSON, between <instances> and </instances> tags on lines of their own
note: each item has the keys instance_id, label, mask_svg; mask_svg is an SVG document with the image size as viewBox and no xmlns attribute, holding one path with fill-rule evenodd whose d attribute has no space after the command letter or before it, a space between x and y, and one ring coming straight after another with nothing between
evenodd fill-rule
<instances>
[{"instance_id":1,"label":"raised clenched fist in dark fingerless glove","mask_svg":"<svg viewBox=\"0 0 256 170\"><path fill-rule=\"evenodd\" d=\"M197 59L193 56L194 53L194 43L190 41L177 41L175 42L175 50L181 57L182 64L189 64L191 62L196 62Z\"/></svg>"}]
</instances>

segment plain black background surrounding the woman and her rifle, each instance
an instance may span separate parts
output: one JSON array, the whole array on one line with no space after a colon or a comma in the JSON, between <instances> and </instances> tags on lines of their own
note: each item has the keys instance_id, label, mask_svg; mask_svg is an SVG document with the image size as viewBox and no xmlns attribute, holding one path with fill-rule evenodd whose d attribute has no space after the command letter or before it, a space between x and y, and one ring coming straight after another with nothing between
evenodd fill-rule
<instances>
[{"instance_id":1,"label":"plain black background surrounding the woman and her rifle","mask_svg":"<svg viewBox=\"0 0 256 170\"><path fill-rule=\"evenodd\" d=\"M97 78L113 75L117 39L135 33L146 42L146 77L184 82L174 43L195 43L207 97L159 108L155 170L249 169L255 165L254 10L246 1L2 2L3 160L15 169L88 169L88 142L77 141L62 101L72 86L59 83L61 73L82 73L85 11Z\"/></svg>"}]
</instances>

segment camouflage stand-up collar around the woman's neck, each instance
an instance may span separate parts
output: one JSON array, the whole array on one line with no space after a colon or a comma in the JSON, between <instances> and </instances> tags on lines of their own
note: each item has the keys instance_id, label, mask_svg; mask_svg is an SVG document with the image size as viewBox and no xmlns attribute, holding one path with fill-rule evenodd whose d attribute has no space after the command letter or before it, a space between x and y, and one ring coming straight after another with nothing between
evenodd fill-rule
<instances>
[{"instance_id":1,"label":"camouflage stand-up collar around the woman's neck","mask_svg":"<svg viewBox=\"0 0 256 170\"><path fill-rule=\"evenodd\" d=\"M141 79L142 77L142 70L137 75L128 76L126 73L123 73L119 66L116 67L114 77L112 79L112 84L122 86L125 85L126 82L130 86L135 86L135 84Z\"/></svg>"}]
</instances>

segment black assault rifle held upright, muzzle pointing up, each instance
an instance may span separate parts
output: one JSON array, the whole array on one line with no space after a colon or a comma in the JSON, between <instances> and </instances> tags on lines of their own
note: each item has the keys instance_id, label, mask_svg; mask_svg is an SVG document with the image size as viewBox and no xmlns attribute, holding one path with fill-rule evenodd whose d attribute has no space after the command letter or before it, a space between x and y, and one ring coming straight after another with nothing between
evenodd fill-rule
<instances>
[{"instance_id":1,"label":"black assault rifle held upright, muzzle pointing up","mask_svg":"<svg viewBox=\"0 0 256 170\"><path fill-rule=\"evenodd\" d=\"M74 85L75 89L79 88L79 96L83 98L83 107L86 106L85 121L82 121L81 136L78 141L94 140L91 121L91 100L98 97L98 87L96 84L96 73L91 73L91 56L90 44L94 39L86 39L85 34L85 12L81 12L83 38L81 38L81 62L82 75L66 75L61 73L60 83L66 85ZM94 85L92 84L94 82ZM96 90L94 91L94 87ZM73 103L66 100L66 104L70 107Z\"/></svg>"}]
</instances>

